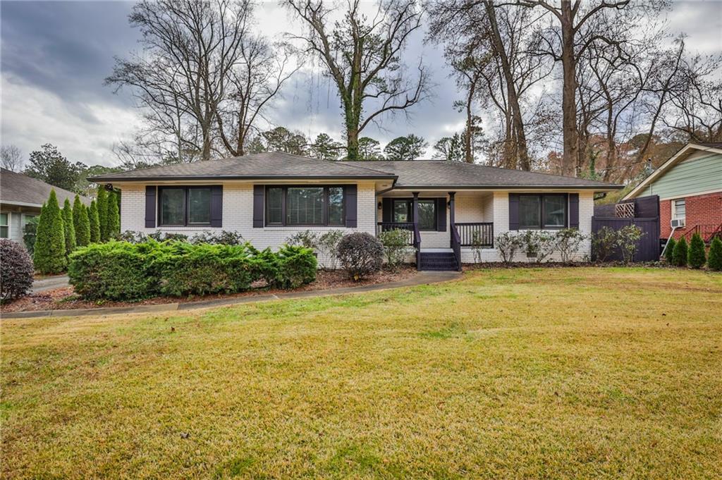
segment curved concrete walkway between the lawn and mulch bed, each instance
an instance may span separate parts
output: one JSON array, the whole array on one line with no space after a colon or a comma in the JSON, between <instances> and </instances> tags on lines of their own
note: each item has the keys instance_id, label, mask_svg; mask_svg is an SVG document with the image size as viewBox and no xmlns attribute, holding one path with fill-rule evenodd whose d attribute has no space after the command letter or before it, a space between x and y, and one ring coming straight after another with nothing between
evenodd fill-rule
<instances>
[{"instance_id":1,"label":"curved concrete walkway between the lawn and mulch bed","mask_svg":"<svg viewBox=\"0 0 722 480\"><path fill-rule=\"evenodd\" d=\"M67 277L66 282L67 282ZM130 313L160 313L178 310L196 310L199 308L221 307L240 303L267 302L269 300L287 300L293 298L328 297L346 293L375 292L400 287L414 287L416 285L435 284L460 279L461 274L456 271L419 271L409 279L386 284L361 285L360 287L344 287L329 290L310 290L305 292L283 292L279 294L248 295L248 297L220 298L218 300L204 300L201 302L163 303L160 305L139 305L137 307L105 307L105 308L76 308L71 310L37 310L35 312L3 313L2 318L42 318L42 317L77 317L80 315L128 315ZM35 285L33 284L33 288ZM58 287L48 287L58 288Z\"/></svg>"}]
</instances>

